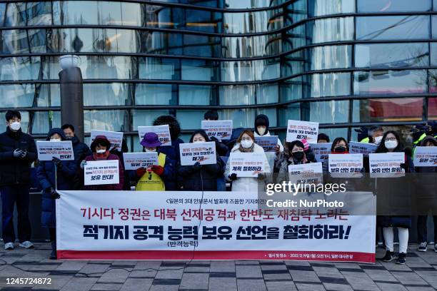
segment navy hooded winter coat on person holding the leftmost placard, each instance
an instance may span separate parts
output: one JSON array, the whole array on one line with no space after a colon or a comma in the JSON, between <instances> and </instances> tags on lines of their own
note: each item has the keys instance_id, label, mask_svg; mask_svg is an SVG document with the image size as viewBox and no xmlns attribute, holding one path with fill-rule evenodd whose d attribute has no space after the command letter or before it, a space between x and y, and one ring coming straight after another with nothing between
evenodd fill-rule
<instances>
[{"instance_id":1,"label":"navy hooded winter coat on person holding the leftmost placard","mask_svg":"<svg viewBox=\"0 0 437 291\"><path fill-rule=\"evenodd\" d=\"M47 140L54 133L58 133L65 140L64 131L54 128L49 132ZM74 176L76 175L77 164L74 160L63 160L61 166L57 168L57 188L58 190L74 190ZM55 185L55 165L51 160L41 160L36 168L36 177L41 185L41 225L43 228L56 227L56 208L55 200L51 198L51 188L56 189Z\"/></svg>"}]
</instances>

